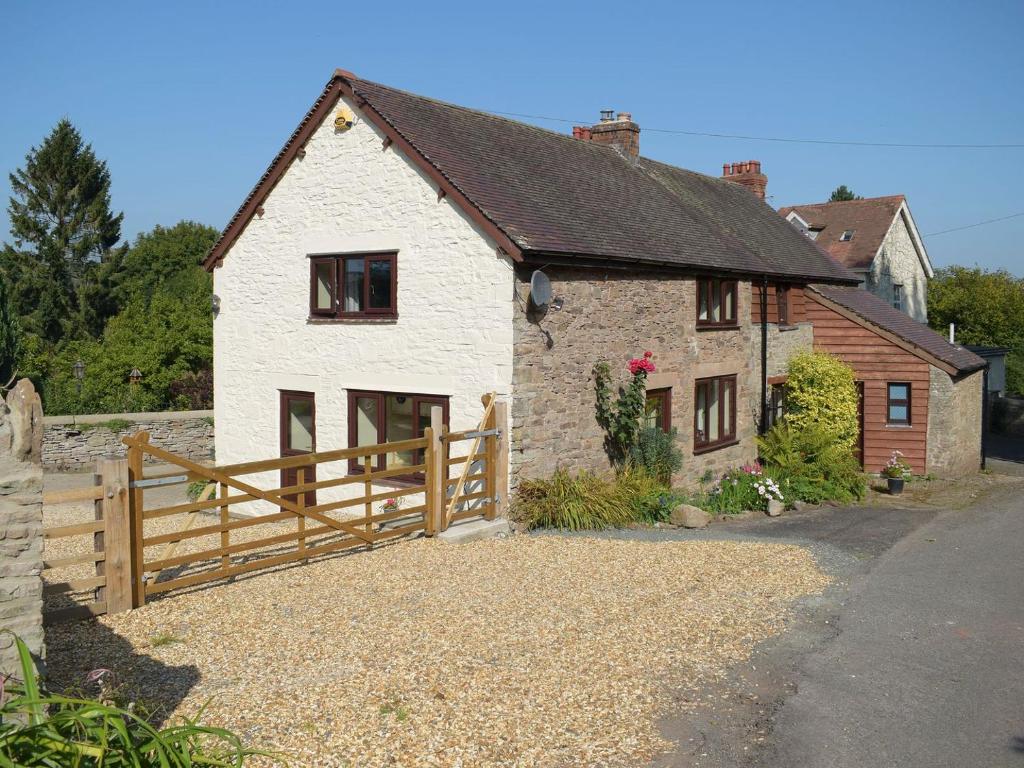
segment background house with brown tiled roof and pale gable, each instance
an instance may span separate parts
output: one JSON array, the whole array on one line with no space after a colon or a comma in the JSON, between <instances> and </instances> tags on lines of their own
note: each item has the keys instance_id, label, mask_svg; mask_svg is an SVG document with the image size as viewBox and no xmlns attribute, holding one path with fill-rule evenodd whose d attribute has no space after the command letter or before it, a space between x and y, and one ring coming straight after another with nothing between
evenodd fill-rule
<instances>
[{"instance_id":1,"label":"background house with brown tiled roof and pale gable","mask_svg":"<svg viewBox=\"0 0 1024 768\"><path fill-rule=\"evenodd\" d=\"M786 206L779 213L860 274L861 288L928 322L928 281L935 272L905 197Z\"/></svg>"}]
</instances>

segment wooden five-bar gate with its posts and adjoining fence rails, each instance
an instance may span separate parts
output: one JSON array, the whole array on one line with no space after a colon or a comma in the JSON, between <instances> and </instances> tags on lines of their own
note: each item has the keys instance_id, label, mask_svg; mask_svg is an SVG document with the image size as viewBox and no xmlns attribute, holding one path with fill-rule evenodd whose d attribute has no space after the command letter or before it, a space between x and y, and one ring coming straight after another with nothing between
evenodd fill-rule
<instances>
[{"instance_id":1,"label":"wooden five-bar gate with its posts and adjoining fence rails","mask_svg":"<svg viewBox=\"0 0 1024 768\"><path fill-rule=\"evenodd\" d=\"M128 610L172 590L501 516L508 412L494 393L482 404L472 430L449 431L434 408L415 439L225 466L165 451L145 432L126 437L127 457L101 460L95 485L43 497L44 505L95 505L94 519L44 529L47 540L91 538L80 552L45 561L46 620ZM402 461L389 460L399 455ZM154 462L164 465L159 473L147 467ZM349 471L353 463L360 472ZM282 470L295 480L267 489L266 478L286 476ZM186 483L202 486L194 501L151 503L153 490ZM79 578L48 572L72 566ZM57 595L71 604L52 607Z\"/></svg>"}]
</instances>

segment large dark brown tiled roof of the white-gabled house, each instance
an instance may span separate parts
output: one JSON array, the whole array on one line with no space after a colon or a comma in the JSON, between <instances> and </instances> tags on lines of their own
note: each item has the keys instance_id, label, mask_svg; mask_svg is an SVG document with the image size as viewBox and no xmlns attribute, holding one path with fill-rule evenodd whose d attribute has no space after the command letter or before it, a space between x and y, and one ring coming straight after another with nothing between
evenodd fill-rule
<instances>
[{"instance_id":1,"label":"large dark brown tiled roof of the white-gabled house","mask_svg":"<svg viewBox=\"0 0 1024 768\"><path fill-rule=\"evenodd\" d=\"M332 91L350 90L523 254L856 279L762 200L721 179L339 73L253 190L208 265L287 168Z\"/></svg>"}]
</instances>

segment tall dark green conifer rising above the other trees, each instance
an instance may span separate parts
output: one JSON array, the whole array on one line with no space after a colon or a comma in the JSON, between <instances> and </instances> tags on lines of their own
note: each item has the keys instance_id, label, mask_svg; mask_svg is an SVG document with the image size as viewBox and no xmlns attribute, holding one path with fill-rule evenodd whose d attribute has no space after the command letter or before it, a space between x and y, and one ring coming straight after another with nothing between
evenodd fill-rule
<instances>
[{"instance_id":1,"label":"tall dark green conifer rising above the other trees","mask_svg":"<svg viewBox=\"0 0 1024 768\"><path fill-rule=\"evenodd\" d=\"M111 212L106 163L67 118L32 147L10 185L14 243L4 246L0 266L27 330L56 341L76 328L78 286L120 240L123 214Z\"/></svg>"}]
</instances>

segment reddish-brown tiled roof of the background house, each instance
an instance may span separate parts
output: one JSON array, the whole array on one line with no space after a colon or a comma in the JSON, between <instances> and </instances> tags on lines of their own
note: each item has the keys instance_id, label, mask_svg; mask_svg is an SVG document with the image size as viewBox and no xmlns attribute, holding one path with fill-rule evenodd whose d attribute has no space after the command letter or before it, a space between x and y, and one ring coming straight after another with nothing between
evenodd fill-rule
<instances>
[{"instance_id":1,"label":"reddish-brown tiled roof of the background house","mask_svg":"<svg viewBox=\"0 0 1024 768\"><path fill-rule=\"evenodd\" d=\"M834 258L850 269L866 269L882 247L882 241L904 200L902 195L892 195L887 198L786 206L778 212L785 217L796 211L812 229L820 230L814 242ZM853 230L853 239L840 240L847 229Z\"/></svg>"}]
</instances>

